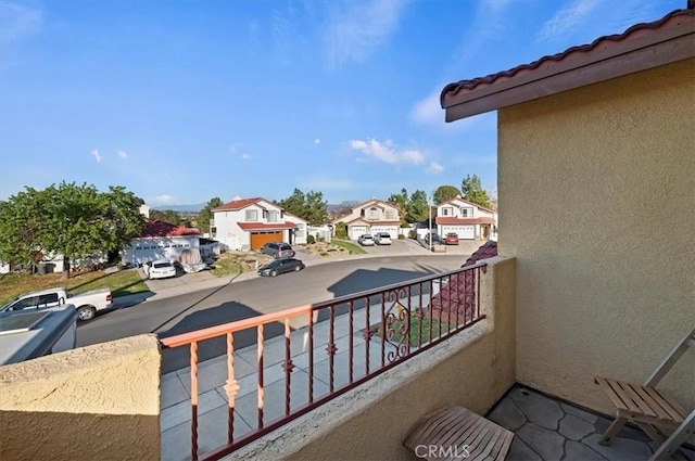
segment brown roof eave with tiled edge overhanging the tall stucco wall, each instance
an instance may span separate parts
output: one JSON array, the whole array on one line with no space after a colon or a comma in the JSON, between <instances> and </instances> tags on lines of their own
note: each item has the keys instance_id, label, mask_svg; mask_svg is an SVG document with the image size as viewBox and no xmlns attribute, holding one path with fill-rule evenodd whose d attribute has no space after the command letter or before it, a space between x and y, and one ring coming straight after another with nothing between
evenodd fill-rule
<instances>
[{"instance_id":1,"label":"brown roof eave with tiled edge overhanging the tall stucco wall","mask_svg":"<svg viewBox=\"0 0 695 461\"><path fill-rule=\"evenodd\" d=\"M508 71L444 87L446 121L695 56L694 10L677 10L622 34L571 47Z\"/></svg>"}]
</instances>

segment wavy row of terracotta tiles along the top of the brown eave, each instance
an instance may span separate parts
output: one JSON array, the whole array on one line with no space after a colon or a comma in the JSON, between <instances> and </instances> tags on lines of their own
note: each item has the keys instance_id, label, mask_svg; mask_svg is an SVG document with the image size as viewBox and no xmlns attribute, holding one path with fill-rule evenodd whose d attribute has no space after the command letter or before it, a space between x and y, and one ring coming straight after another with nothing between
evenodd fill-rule
<instances>
[{"instance_id":1,"label":"wavy row of terracotta tiles along the top of the brown eave","mask_svg":"<svg viewBox=\"0 0 695 461\"><path fill-rule=\"evenodd\" d=\"M687 16L692 17L692 10L675 10L658 21L652 23L635 24L622 34L603 36L591 43L568 48L561 53L543 56L530 64L521 64L508 71L498 72L485 77L478 77L469 80L460 80L454 84L448 84L442 90L442 94L440 98L442 107L444 107L444 97L446 95L456 95L460 92L473 91L476 89L479 89L480 87L488 87L497 82L503 82L510 78L522 76L540 68L547 68L555 65L555 63L576 59L578 54L589 53L595 49L606 49L611 47L616 42L620 42L629 38L639 38L648 34L650 30L667 27L671 25L670 23L675 23L680 20L686 18Z\"/></svg>"}]
</instances>

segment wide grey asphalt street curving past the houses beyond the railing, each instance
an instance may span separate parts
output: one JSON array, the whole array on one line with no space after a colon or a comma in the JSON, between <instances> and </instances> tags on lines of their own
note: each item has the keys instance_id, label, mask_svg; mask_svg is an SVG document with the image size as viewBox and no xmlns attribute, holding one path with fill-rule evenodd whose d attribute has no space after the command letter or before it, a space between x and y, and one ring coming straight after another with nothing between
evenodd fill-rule
<instances>
[{"instance_id":1,"label":"wide grey asphalt street curving past the houses beyond the railing","mask_svg":"<svg viewBox=\"0 0 695 461\"><path fill-rule=\"evenodd\" d=\"M460 267L464 256L395 256L342 260L307 267L277 278L255 278L105 312L77 329L77 345L87 346L142 333L172 336L263 313L332 299ZM281 334L269 325L266 338ZM276 331L277 330L277 331ZM237 347L253 344L253 332L235 335ZM224 354L224 337L201 344L200 359ZM165 350L163 372L185 367L188 348Z\"/></svg>"}]
</instances>

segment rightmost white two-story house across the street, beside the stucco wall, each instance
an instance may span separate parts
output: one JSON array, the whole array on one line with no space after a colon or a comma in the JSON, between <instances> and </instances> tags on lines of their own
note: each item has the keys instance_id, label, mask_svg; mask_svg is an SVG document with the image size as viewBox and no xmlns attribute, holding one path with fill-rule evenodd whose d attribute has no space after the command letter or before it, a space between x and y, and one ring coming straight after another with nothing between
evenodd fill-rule
<instances>
[{"instance_id":1,"label":"rightmost white two-story house across the street, beside the stucco wall","mask_svg":"<svg viewBox=\"0 0 695 461\"><path fill-rule=\"evenodd\" d=\"M490 239L497 222L497 214L460 197L437 206L437 232L458 234L459 239Z\"/></svg>"}]
</instances>

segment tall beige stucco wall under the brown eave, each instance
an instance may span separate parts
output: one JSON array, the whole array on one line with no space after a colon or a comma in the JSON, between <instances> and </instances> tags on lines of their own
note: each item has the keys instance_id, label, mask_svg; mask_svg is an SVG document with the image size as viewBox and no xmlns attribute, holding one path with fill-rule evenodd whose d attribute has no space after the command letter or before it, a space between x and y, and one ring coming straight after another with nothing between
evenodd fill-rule
<instances>
[{"instance_id":1,"label":"tall beige stucco wall under the brown eave","mask_svg":"<svg viewBox=\"0 0 695 461\"><path fill-rule=\"evenodd\" d=\"M517 258L518 381L608 411L695 325L695 62L498 113L500 253ZM666 392L692 408L695 354Z\"/></svg>"}]
</instances>

